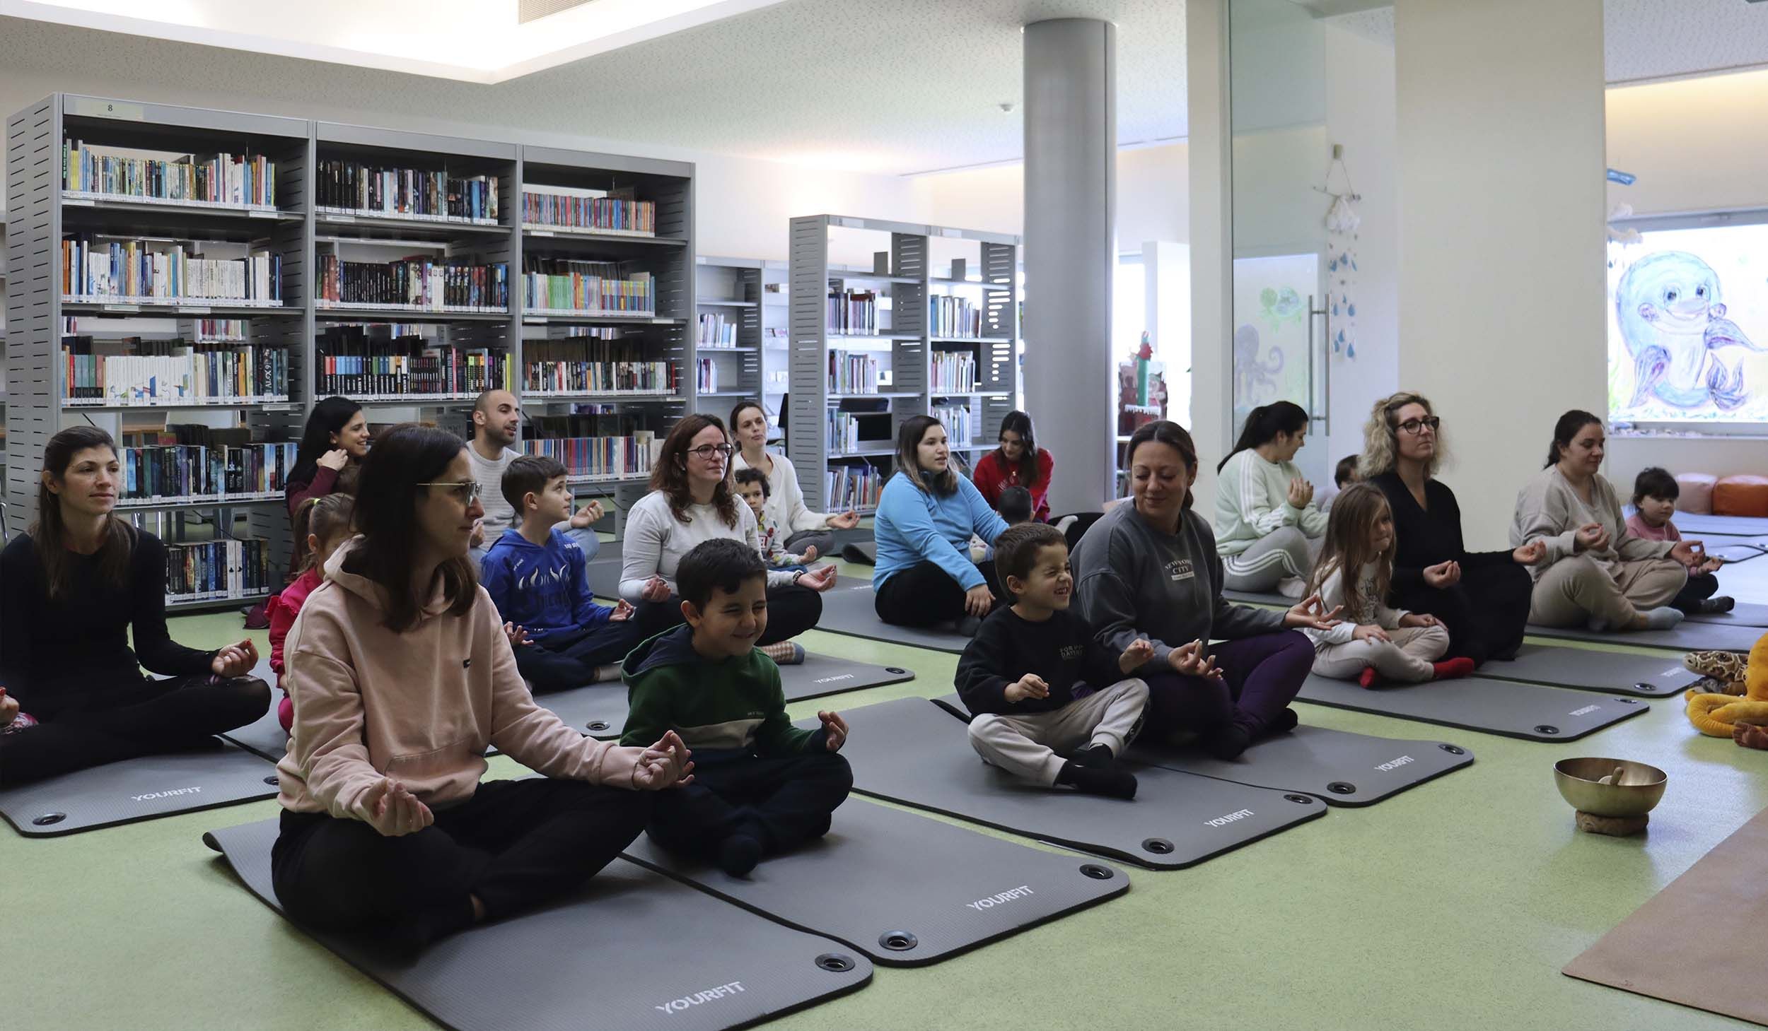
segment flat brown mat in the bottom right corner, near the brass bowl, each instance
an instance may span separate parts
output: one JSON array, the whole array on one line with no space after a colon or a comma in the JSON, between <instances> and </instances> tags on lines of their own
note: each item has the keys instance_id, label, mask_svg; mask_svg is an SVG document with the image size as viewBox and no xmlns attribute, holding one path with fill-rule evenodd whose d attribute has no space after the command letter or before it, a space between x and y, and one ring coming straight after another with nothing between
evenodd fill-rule
<instances>
[{"instance_id":1,"label":"flat brown mat in the bottom right corner, near the brass bowl","mask_svg":"<svg viewBox=\"0 0 1768 1031\"><path fill-rule=\"evenodd\" d=\"M1581 842L1602 844L1602 842ZM1611 989L1768 1024L1763 918L1768 812L1671 881L1565 973Z\"/></svg>"}]
</instances>

